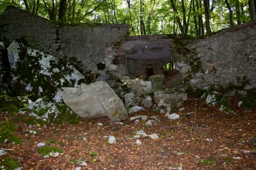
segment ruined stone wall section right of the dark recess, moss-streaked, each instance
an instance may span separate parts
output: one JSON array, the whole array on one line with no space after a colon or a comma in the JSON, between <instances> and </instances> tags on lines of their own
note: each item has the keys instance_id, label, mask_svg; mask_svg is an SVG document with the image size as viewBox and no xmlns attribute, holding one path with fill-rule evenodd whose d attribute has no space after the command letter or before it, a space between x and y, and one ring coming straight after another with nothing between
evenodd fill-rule
<instances>
[{"instance_id":1,"label":"ruined stone wall section right of the dark recess, moss-streaked","mask_svg":"<svg viewBox=\"0 0 256 170\"><path fill-rule=\"evenodd\" d=\"M171 40L183 85L256 87L256 21L189 40Z\"/></svg>"}]
</instances>

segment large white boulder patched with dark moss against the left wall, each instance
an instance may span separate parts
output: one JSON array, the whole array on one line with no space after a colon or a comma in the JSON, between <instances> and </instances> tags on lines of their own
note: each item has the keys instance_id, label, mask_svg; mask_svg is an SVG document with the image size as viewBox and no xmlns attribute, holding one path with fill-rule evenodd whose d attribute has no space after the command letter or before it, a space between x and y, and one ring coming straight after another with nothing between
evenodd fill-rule
<instances>
[{"instance_id":1,"label":"large white boulder patched with dark moss against the left wall","mask_svg":"<svg viewBox=\"0 0 256 170\"><path fill-rule=\"evenodd\" d=\"M78 87L84 81L84 76L67 60L33 50L22 40L14 40L7 51L15 96L33 94L32 100L48 98L60 102L61 87Z\"/></svg>"}]
</instances>

